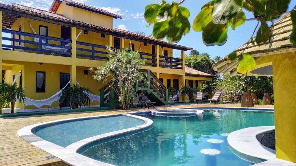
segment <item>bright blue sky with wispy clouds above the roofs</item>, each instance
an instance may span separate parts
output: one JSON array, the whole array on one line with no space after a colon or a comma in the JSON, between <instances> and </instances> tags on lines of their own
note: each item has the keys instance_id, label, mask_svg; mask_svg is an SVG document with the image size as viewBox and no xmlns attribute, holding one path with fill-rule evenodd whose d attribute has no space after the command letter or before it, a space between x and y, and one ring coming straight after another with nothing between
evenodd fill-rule
<instances>
[{"instance_id":1,"label":"bright blue sky with wispy clouds above the roofs","mask_svg":"<svg viewBox=\"0 0 296 166\"><path fill-rule=\"evenodd\" d=\"M53 0L14 0L14 3L23 4L26 6L31 6L39 9L49 10L50 5ZM145 22L143 13L145 6L147 4L158 3L157 0L76 0L88 5L100 7L102 9L108 10L110 12L119 14L122 19L114 19L113 26L129 30L131 32L145 32L146 35L152 33L152 26L146 27L147 22ZM181 1L181 0L180 0ZM200 8L210 0L185 0L181 5L189 9L190 17L189 21L192 24L196 15L200 12ZM0 2L5 4L11 4L11 0L0 0ZM170 3L171 1L167 1ZM198 2L198 3L197 3ZM296 1L292 0L290 4L290 9L296 5ZM245 12L247 18L253 18L252 13ZM243 43L247 42L252 35L252 32L256 26L256 21L247 21L244 25L237 27L235 30L228 30L228 39L223 46L205 46L202 42L202 32L195 32L190 30L188 34L182 37L181 41L176 44L188 46L196 49L200 53L207 52L213 58L215 56L224 57L231 53L234 49L241 46ZM189 54L189 51L186 52ZM173 56L180 56L181 52L178 50L173 51Z\"/></svg>"}]
</instances>

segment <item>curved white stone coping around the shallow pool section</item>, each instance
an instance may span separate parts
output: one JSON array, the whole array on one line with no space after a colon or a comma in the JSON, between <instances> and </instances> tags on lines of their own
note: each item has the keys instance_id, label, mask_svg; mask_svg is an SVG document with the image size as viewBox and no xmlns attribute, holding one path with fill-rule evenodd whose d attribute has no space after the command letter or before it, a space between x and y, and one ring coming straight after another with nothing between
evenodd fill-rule
<instances>
[{"instance_id":1,"label":"curved white stone coping around the shallow pool section","mask_svg":"<svg viewBox=\"0 0 296 166\"><path fill-rule=\"evenodd\" d=\"M74 120L74 119L83 119L83 118L95 118L95 117L111 117L111 116L116 116L116 115L123 115L123 116L128 116L132 118L138 118L144 121L143 124L123 130L118 130L118 131L112 131L109 133L105 134L100 134L94 137L89 137L87 139L83 139L80 142L80 144L74 144L74 146L71 146L70 148L64 148L61 147L57 144L54 144L52 142L46 141L39 136L36 136L35 134L32 133L32 129L44 125L44 124L49 124L49 123L55 123L55 122L60 122L60 121L68 121L68 120ZM78 145L85 145L87 144L85 141L95 141L95 139L107 139L112 136L118 136L121 134L125 134L126 132L132 134L133 131L138 131L143 128L149 128L149 126L152 126L153 121L151 119L137 116L137 115L131 115L131 114L108 114L108 115L96 115L96 116L86 116L86 117L79 117L79 118L67 118L67 119L60 119L60 120L55 120L55 121L48 121L48 122L43 122L43 123L37 123L33 124L30 126L26 126L21 128L20 130L17 131L17 134L24 139L25 141L29 142L30 144L33 144L34 146L54 155L55 157L58 157L61 159L63 162L69 164L69 165L75 165L75 166L85 166L85 165L99 165L99 166L113 166L112 164L108 164L105 162L101 162L98 160L91 159L89 157L83 156L82 154L77 153L76 151L73 151L73 149L77 148ZM90 142L89 142L90 143ZM71 144L72 145L72 144Z\"/></svg>"}]
</instances>

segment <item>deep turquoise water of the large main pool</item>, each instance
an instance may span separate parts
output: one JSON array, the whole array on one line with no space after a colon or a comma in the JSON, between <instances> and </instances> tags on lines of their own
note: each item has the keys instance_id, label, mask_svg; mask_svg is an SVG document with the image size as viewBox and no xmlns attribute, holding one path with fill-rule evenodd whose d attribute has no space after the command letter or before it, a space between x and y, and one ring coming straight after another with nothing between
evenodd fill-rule
<instances>
[{"instance_id":1,"label":"deep turquoise water of the large main pool","mask_svg":"<svg viewBox=\"0 0 296 166\"><path fill-rule=\"evenodd\" d=\"M205 110L203 114L184 118L142 116L153 120L152 129L102 144L90 144L78 153L119 166L247 166L252 163L229 150L227 133L274 125L273 112ZM220 154L208 155L201 151Z\"/></svg>"}]
</instances>

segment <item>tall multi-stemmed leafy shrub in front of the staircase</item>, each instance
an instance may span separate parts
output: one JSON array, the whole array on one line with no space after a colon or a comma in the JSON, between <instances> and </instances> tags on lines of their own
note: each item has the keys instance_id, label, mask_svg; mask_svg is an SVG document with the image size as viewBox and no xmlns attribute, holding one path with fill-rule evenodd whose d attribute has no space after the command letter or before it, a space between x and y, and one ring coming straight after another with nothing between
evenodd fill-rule
<instances>
[{"instance_id":1,"label":"tall multi-stemmed leafy shrub in front of the staircase","mask_svg":"<svg viewBox=\"0 0 296 166\"><path fill-rule=\"evenodd\" d=\"M94 79L114 89L123 109L128 110L133 106L133 97L136 95L135 84L147 84L143 72L139 71L145 60L140 58L138 51L114 50L110 45L107 48L109 61L96 69L90 68L90 71L94 73Z\"/></svg>"}]
</instances>

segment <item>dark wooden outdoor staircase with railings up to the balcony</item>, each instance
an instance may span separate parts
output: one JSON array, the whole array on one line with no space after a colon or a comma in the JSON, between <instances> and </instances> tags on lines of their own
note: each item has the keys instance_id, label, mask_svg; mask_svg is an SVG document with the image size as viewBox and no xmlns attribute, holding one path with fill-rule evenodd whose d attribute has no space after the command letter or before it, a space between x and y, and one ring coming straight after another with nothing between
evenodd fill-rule
<instances>
[{"instance_id":1,"label":"dark wooden outdoor staircase with railings up to the balcony","mask_svg":"<svg viewBox=\"0 0 296 166\"><path fill-rule=\"evenodd\" d=\"M142 90L147 92L149 100L155 101L155 105L168 105L168 89L150 70L140 69L144 78L147 80L147 87L142 87L143 83L136 83L136 91ZM147 79L149 78L149 79Z\"/></svg>"}]
</instances>

